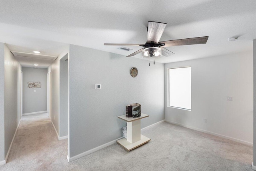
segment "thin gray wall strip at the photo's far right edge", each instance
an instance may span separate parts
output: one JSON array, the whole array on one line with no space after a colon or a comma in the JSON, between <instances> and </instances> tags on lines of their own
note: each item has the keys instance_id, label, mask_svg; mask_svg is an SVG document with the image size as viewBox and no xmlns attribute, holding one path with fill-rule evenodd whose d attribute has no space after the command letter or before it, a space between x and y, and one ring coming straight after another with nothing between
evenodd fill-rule
<instances>
[{"instance_id":1,"label":"thin gray wall strip at the photo's far right edge","mask_svg":"<svg viewBox=\"0 0 256 171\"><path fill-rule=\"evenodd\" d=\"M256 166L256 39L253 40L253 163Z\"/></svg>"}]
</instances>

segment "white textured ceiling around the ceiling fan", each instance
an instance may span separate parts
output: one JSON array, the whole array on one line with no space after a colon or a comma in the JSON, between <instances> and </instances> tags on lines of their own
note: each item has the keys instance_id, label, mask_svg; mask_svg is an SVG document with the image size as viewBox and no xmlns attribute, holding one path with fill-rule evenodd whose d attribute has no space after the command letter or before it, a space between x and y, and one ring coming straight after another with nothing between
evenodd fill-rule
<instances>
[{"instance_id":1,"label":"white textured ceiling around the ceiling fan","mask_svg":"<svg viewBox=\"0 0 256 171\"><path fill-rule=\"evenodd\" d=\"M168 63L252 51L255 18L255 0L1 0L0 41L13 51L39 50L51 56L58 56L66 44L129 55L140 47L126 46L133 49L126 52L103 44L144 44L148 21L167 23L160 41L209 36L206 44L168 47L175 54L156 59ZM238 41L228 42L234 36Z\"/></svg>"}]
</instances>

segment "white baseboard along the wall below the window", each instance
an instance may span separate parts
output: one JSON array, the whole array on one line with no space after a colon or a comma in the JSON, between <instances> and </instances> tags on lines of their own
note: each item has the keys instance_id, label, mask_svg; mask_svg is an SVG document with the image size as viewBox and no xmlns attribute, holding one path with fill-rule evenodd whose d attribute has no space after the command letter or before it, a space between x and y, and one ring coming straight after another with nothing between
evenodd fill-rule
<instances>
[{"instance_id":1,"label":"white baseboard along the wall below the window","mask_svg":"<svg viewBox=\"0 0 256 171\"><path fill-rule=\"evenodd\" d=\"M215 135L217 137L222 137L222 138L226 138L226 139L229 139L229 140L232 140L232 141L236 141L238 143L243 143L243 144L246 144L246 145L253 146L253 143L250 143L250 142L247 142L247 141L243 141L243 140L240 140L240 139L228 137L228 136L221 135L221 134L218 134L218 133L213 133L213 132L206 131L206 130L203 130L203 129L198 129L198 128L191 127L191 126L188 126L188 125L183 125L181 123L177 123L177 122L173 122L173 121L168 121L168 120L165 120L165 121L168 122L168 123L173 123L175 125L180 125L182 127L186 127L186 128L189 128L189 129L194 129L196 131L200 131L200 132L208 133L208 134L211 134L211 135Z\"/></svg>"}]
</instances>

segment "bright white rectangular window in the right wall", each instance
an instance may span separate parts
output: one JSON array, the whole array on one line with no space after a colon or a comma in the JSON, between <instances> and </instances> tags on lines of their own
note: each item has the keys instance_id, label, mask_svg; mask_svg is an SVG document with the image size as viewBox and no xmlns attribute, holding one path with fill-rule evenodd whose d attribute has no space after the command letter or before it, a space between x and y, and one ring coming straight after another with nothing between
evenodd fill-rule
<instances>
[{"instance_id":1,"label":"bright white rectangular window in the right wall","mask_svg":"<svg viewBox=\"0 0 256 171\"><path fill-rule=\"evenodd\" d=\"M191 67L169 69L169 106L191 110Z\"/></svg>"}]
</instances>

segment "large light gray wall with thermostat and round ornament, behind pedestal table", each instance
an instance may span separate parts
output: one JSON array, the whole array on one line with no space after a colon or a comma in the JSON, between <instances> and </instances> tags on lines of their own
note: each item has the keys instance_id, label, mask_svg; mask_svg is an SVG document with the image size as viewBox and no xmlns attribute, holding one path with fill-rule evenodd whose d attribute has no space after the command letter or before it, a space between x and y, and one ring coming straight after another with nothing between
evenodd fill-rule
<instances>
[{"instance_id":1,"label":"large light gray wall with thermostat and round ornament, behind pedestal table","mask_svg":"<svg viewBox=\"0 0 256 171\"><path fill-rule=\"evenodd\" d=\"M69 157L122 137L126 122L117 117L128 104L150 115L142 128L164 119L164 64L70 45L69 78Z\"/></svg>"}]
</instances>

